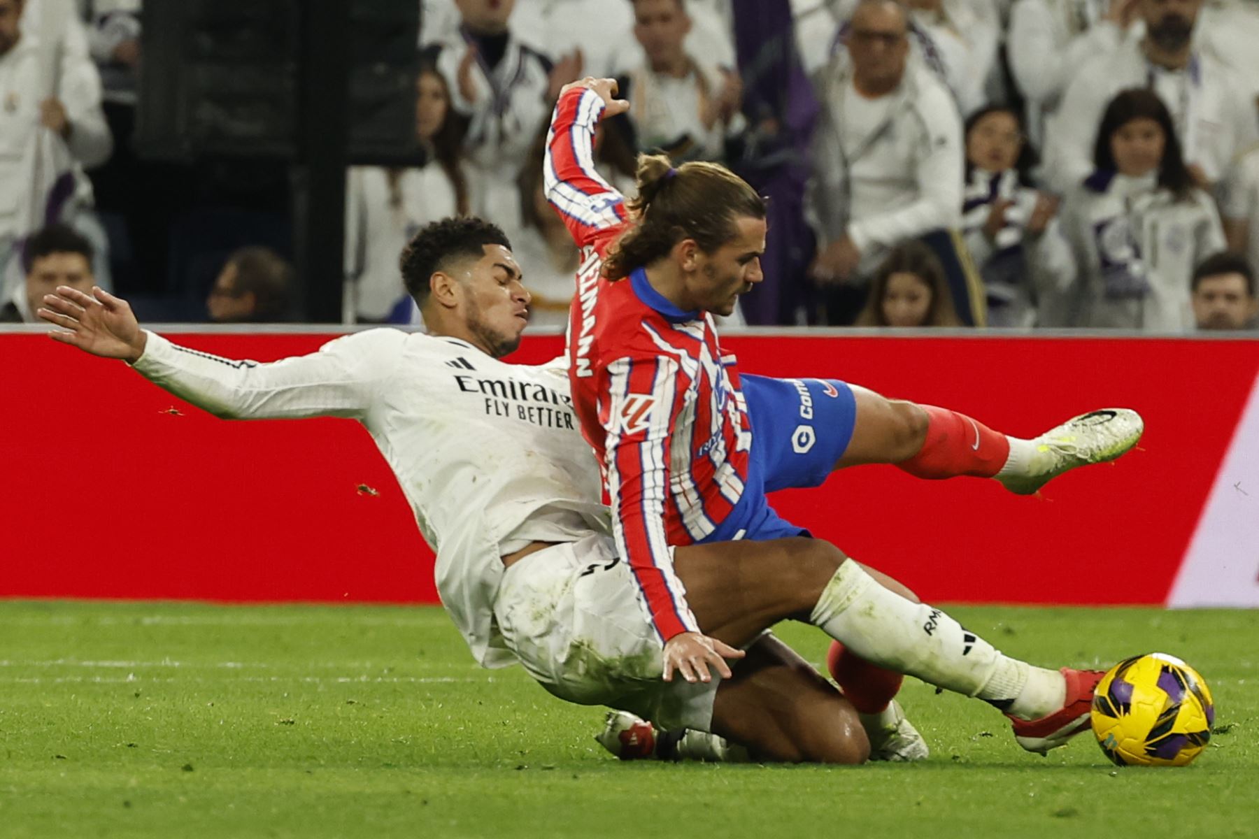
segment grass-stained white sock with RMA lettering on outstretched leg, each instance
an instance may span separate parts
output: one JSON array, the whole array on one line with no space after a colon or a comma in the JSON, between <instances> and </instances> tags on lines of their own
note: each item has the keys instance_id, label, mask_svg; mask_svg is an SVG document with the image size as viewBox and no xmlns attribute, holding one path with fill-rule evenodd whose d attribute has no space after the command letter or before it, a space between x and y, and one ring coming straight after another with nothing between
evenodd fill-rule
<instances>
[{"instance_id":1,"label":"grass-stained white sock with RMA lettering on outstretched leg","mask_svg":"<svg viewBox=\"0 0 1259 839\"><path fill-rule=\"evenodd\" d=\"M1042 717L1066 694L1060 673L1003 655L939 609L884 589L852 560L826 584L810 623L871 664L1015 716Z\"/></svg>"}]
</instances>

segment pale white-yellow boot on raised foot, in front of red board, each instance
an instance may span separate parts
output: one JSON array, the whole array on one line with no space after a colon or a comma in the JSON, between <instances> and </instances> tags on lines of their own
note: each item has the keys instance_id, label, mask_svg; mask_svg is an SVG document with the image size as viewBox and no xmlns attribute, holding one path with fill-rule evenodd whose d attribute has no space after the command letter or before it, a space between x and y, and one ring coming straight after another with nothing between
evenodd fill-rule
<instances>
[{"instance_id":1,"label":"pale white-yellow boot on raised foot, in front of red board","mask_svg":"<svg viewBox=\"0 0 1259 839\"><path fill-rule=\"evenodd\" d=\"M1141 439L1146 423L1134 410L1107 408L1069 419L1035 438L1036 452L1021 474L997 475L1006 489L1032 496L1076 467L1114 460Z\"/></svg>"}]
</instances>

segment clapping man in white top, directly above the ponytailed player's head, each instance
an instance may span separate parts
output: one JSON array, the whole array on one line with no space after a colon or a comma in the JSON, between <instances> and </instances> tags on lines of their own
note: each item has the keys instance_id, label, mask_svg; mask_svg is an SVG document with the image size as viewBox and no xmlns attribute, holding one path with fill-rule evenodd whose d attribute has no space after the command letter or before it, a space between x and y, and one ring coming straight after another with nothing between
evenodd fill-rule
<instances>
[{"instance_id":1,"label":"clapping man in white top, directly above the ponytailed player's head","mask_svg":"<svg viewBox=\"0 0 1259 839\"><path fill-rule=\"evenodd\" d=\"M738 73L686 50L684 0L633 0L633 15L645 59L628 70L621 94L633 103L638 147L675 162L723 160L726 135L743 127Z\"/></svg>"}]
</instances>

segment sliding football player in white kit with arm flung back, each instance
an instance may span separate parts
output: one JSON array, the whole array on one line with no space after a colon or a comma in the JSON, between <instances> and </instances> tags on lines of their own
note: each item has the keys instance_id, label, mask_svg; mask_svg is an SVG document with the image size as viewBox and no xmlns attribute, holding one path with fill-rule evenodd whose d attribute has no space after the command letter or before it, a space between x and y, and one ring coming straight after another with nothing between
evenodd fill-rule
<instances>
[{"instance_id":1,"label":"sliding football player in white kit with arm flung back","mask_svg":"<svg viewBox=\"0 0 1259 839\"><path fill-rule=\"evenodd\" d=\"M506 236L478 219L434 223L403 253L402 273L428 335L369 330L272 364L175 345L141 330L130 306L102 289L62 287L39 316L60 327L53 338L125 360L217 416L361 423L437 551L442 603L472 654L485 667L519 662L563 699L714 732L759 760L925 756L895 703L859 718L768 633L797 619L875 664L1034 721L1016 732L1031 751L1088 725L1088 702L1056 672L1001 654L899 582L811 538L676 550L675 574L713 650L681 664L675 679L611 538L567 360L500 361L519 345L530 299Z\"/></svg>"}]
</instances>

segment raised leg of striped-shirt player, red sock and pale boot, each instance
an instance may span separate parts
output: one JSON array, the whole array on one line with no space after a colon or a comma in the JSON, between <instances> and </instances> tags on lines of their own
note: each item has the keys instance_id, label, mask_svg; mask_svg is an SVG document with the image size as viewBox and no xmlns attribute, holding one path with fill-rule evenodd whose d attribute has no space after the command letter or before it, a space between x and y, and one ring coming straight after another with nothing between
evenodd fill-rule
<instances>
[{"instance_id":1,"label":"raised leg of striped-shirt player, red sock and pale boot","mask_svg":"<svg viewBox=\"0 0 1259 839\"><path fill-rule=\"evenodd\" d=\"M1025 440L946 408L850 387L856 399L856 421L836 469L891 463L919 478L995 478L1011 492L1032 494L1064 472L1118 458L1137 444L1144 430L1136 411L1105 409Z\"/></svg>"}]
</instances>

